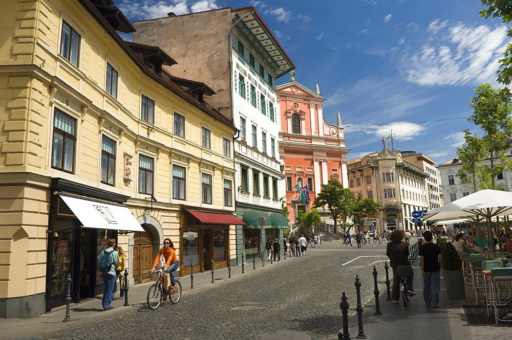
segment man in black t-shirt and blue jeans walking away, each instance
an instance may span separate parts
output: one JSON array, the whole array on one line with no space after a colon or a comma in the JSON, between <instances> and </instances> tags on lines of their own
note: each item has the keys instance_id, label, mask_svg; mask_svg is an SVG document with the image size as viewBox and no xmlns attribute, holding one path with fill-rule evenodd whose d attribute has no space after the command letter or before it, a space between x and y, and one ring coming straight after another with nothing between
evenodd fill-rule
<instances>
[{"instance_id":1,"label":"man in black t-shirt and blue jeans walking away","mask_svg":"<svg viewBox=\"0 0 512 340\"><path fill-rule=\"evenodd\" d=\"M423 233L425 243L418 248L419 265L423 277L423 300L432 308L439 307L440 271L443 264L441 248L432 241L432 233Z\"/></svg>"}]
</instances>

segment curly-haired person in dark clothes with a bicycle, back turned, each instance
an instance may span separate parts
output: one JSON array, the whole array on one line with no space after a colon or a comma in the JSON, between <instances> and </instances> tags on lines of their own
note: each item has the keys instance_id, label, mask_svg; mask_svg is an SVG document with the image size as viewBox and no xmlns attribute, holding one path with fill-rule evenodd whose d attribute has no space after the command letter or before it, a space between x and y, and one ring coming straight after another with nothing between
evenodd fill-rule
<instances>
[{"instance_id":1,"label":"curly-haired person in dark clothes with a bicycle, back turned","mask_svg":"<svg viewBox=\"0 0 512 340\"><path fill-rule=\"evenodd\" d=\"M397 266L410 266L409 263L409 244L403 242L403 231L395 229L391 232L390 241L386 246L386 256L389 258L389 263L393 269L393 288L391 291L391 299L393 303L398 303L400 299L400 279L401 277L396 273ZM416 295L413 288L414 276L407 277L406 284L407 290L410 295Z\"/></svg>"}]
</instances>

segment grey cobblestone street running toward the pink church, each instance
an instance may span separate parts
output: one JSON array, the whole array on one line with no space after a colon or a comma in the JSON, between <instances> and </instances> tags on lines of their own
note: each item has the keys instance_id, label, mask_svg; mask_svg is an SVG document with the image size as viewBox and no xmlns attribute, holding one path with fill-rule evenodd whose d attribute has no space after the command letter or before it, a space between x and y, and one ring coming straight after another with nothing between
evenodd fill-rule
<instances>
[{"instance_id":1,"label":"grey cobblestone street running toward the pink church","mask_svg":"<svg viewBox=\"0 0 512 340\"><path fill-rule=\"evenodd\" d=\"M308 248L305 257L273 265L267 262L269 268L258 273L187 293L177 305L166 302L156 311L141 305L30 338L336 339L342 327L339 302L343 291L350 311L355 310L356 274L362 283L363 303L373 298L373 265L379 271L380 293L386 293L382 289L385 249L385 244L359 250L339 241L324 243L319 249ZM251 269L246 266L246 272Z\"/></svg>"}]
</instances>

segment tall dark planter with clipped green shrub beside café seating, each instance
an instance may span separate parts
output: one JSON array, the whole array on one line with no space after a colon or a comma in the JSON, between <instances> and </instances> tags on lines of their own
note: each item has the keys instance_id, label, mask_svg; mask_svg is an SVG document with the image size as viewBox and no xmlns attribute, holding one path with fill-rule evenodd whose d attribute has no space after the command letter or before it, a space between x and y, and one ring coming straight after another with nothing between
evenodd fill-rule
<instances>
[{"instance_id":1,"label":"tall dark planter with clipped green shrub beside caf\u00e9 seating","mask_svg":"<svg viewBox=\"0 0 512 340\"><path fill-rule=\"evenodd\" d=\"M452 243L446 242L443 248L443 278L446 295L450 300L463 300L466 298L466 292L462 260Z\"/></svg>"}]
</instances>

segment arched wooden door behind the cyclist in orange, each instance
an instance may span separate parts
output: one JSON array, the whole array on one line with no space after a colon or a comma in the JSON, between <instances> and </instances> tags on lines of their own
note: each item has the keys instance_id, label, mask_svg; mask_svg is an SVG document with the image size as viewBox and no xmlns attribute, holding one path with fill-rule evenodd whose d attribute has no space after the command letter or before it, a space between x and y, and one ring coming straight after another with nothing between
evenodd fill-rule
<instances>
[{"instance_id":1,"label":"arched wooden door behind the cyclist in orange","mask_svg":"<svg viewBox=\"0 0 512 340\"><path fill-rule=\"evenodd\" d=\"M144 228L144 226L142 226ZM145 228L144 228L145 229ZM151 281L153 266L153 236L150 232L137 232L133 236L133 278L135 284Z\"/></svg>"}]
</instances>

